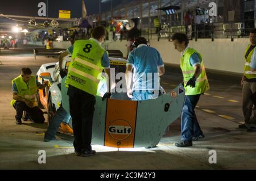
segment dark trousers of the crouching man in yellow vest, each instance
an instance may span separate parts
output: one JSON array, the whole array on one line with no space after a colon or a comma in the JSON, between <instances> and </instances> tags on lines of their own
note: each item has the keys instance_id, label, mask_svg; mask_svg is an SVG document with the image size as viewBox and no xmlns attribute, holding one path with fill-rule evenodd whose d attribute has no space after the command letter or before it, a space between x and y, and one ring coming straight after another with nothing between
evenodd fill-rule
<instances>
[{"instance_id":1,"label":"dark trousers of the crouching man in yellow vest","mask_svg":"<svg viewBox=\"0 0 256 181\"><path fill-rule=\"evenodd\" d=\"M30 108L24 102L16 101L14 104L14 108L16 110L16 120L22 119L23 111L26 111L28 116L34 121L35 123L44 123L44 113L40 110L39 107Z\"/></svg>"}]
</instances>

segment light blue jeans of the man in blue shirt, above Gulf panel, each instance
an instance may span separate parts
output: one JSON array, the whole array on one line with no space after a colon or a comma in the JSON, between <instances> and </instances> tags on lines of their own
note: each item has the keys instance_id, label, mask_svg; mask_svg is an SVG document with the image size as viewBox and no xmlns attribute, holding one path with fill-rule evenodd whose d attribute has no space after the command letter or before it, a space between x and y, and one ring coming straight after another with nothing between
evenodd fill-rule
<instances>
[{"instance_id":1,"label":"light blue jeans of the man in blue shirt, above Gulf panel","mask_svg":"<svg viewBox=\"0 0 256 181\"><path fill-rule=\"evenodd\" d=\"M159 91L133 91L133 98L131 100L148 100L156 99L159 96Z\"/></svg>"}]
</instances>

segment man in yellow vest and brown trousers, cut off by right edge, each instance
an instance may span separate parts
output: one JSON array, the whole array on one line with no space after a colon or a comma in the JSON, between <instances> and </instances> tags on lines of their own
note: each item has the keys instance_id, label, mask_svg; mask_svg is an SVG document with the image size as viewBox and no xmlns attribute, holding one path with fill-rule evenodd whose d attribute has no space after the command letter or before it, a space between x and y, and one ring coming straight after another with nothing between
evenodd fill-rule
<instances>
[{"instance_id":1,"label":"man in yellow vest and brown trousers, cut off by right edge","mask_svg":"<svg viewBox=\"0 0 256 181\"><path fill-rule=\"evenodd\" d=\"M239 125L239 128L248 129L248 131L256 131L256 29L250 31L250 42L245 52L245 73L241 81L243 86L242 107L245 123ZM254 112L254 115L252 115Z\"/></svg>"}]
</instances>

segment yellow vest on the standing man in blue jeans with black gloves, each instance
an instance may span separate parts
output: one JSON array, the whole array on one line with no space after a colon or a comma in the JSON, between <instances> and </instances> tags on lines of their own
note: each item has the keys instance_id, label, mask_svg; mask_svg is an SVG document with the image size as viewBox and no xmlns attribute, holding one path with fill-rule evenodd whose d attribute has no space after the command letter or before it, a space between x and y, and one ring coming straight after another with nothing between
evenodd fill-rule
<instances>
[{"instance_id":1,"label":"yellow vest on the standing man in blue jeans with black gloves","mask_svg":"<svg viewBox=\"0 0 256 181\"><path fill-rule=\"evenodd\" d=\"M189 79L191 79L195 74L195 68L193 67L193 65L190 64L190 57L193 53L197 53L200 57L202 72L196 79L195 88L192 88L190 86L185 87L185 95L199 95L203 94L205 91L210 90L202 56L195 49L189 47L187 48L187 50L185 50L184 57L181 56L180 60L180 68L183 72L184 85L187 85Z\"/></svg>"}]
</instances>

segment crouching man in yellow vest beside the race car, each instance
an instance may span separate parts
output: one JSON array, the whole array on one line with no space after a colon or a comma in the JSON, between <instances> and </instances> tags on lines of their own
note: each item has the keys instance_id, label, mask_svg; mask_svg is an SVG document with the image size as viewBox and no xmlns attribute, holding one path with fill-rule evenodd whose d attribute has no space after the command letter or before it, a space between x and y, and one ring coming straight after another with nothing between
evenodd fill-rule
<instances>
[{"instance_id":1,"label":"crouching man in yellow vest beside the race car","mask_svg":"<svg viewBox=\"0 0 256 181\"><path fill-rule=\"evenodd\" d=\"M47 83L40 85L31 74L30 68L23 68L22 74L11 81L13 91L11 106L16 110L16 124L22 124L23 111L26 111L35 123L44 123L44 113L37 106L35 98L38 89L45 89Z\"/></svg>"}]
</instances>

